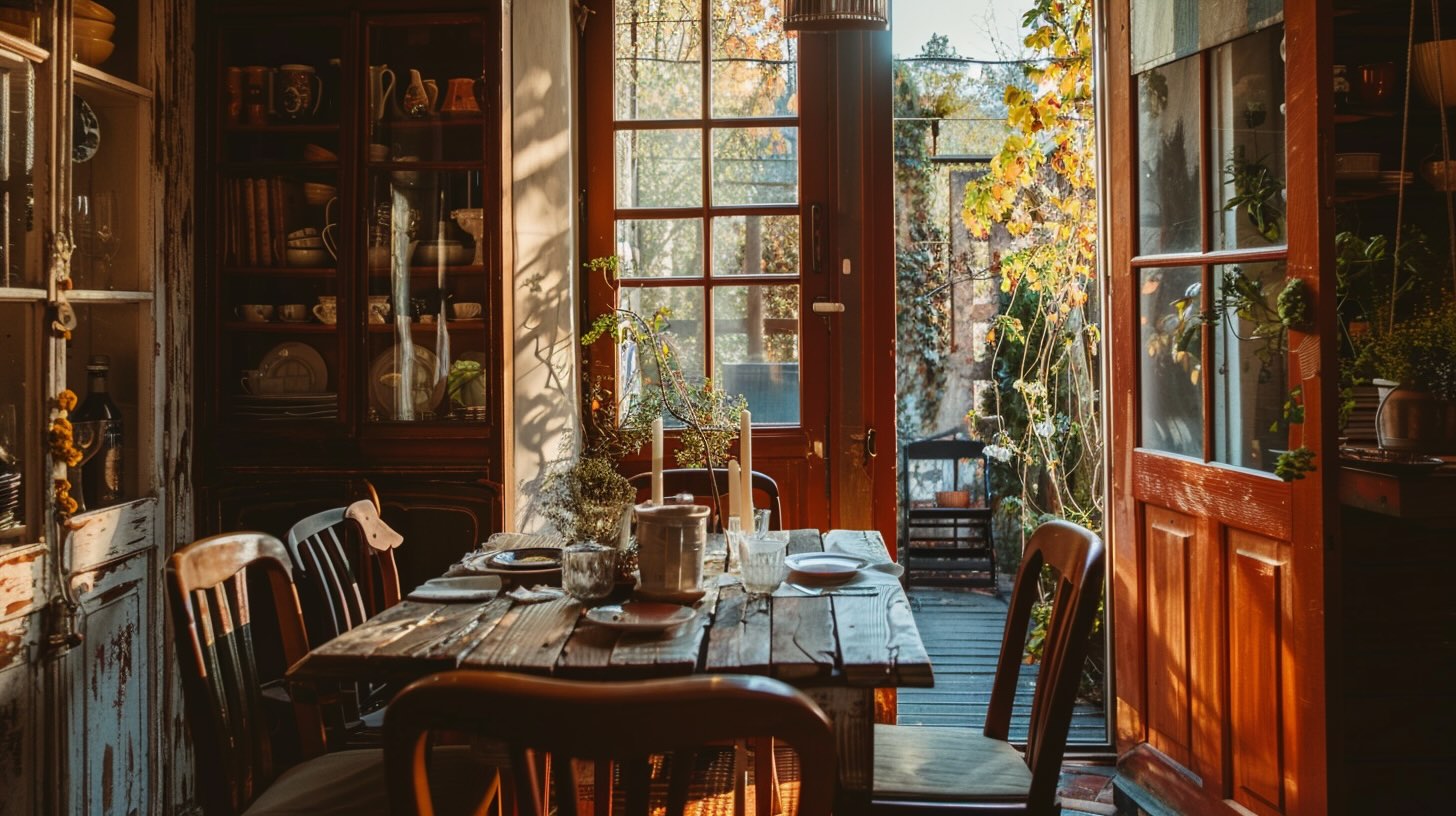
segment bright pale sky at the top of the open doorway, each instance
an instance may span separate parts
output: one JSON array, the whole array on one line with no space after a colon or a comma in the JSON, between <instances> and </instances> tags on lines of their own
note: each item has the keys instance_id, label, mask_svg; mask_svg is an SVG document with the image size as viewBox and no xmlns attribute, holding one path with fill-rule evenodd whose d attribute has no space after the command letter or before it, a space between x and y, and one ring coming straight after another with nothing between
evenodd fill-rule
<instances>
[{"instance_id":1,"label":"bright pale sky at the top of the open doorway","mask_svg":"<svg viewBox=\"0 0 1456 816\"><path fill-rule=\"evenodd\" d=\"M1029 0L891 0L890 36L895 57L913 57L932 34L945 34L962 57L1018 57L1021 16Z\"/></svg>"}]
</instances>

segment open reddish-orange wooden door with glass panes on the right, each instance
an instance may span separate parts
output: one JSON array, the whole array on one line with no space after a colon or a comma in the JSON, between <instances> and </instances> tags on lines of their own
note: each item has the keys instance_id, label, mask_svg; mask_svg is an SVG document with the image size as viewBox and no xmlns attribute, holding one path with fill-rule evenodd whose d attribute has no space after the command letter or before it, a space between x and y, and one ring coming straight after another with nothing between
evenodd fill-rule
<instances>
[{"instance_id":1,"label":"open reddish-orange wooden door with glass panes on the right","mask_svg":"<svg viewBox=\"0 0 1456 816\"><path fill-rule=\"evenodd\" d=\"M1117 748L1123 777L1182 813L1321 813L1337 377L1309 149L1319 23L1315 3L1229 9L1099 9ZM1252 165L1277 187L1255 201L1268 219L1248 208ZM1230 306L1296 278L1309 331L1257 337ZM1300 447L1313 472L1277 476Z\"/></svg>"}]
</instances>

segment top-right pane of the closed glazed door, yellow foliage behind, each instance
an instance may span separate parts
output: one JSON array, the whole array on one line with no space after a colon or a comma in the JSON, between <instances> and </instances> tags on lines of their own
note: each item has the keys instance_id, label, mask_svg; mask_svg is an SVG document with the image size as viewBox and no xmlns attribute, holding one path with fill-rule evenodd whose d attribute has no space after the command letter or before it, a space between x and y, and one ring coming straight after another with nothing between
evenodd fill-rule
<instances>
[{"instance_id":1,"label":"top-right pane of the closed glazed door, yellow foliage behind","mask_svg":"<svg viewBox=\"0 0 1456 816\"><path fill-rule=\"evenodd\" d=\"M780 3L713 1L715 117L798 112L798 38L783 32Z\"/></svg>"}]
</instances>

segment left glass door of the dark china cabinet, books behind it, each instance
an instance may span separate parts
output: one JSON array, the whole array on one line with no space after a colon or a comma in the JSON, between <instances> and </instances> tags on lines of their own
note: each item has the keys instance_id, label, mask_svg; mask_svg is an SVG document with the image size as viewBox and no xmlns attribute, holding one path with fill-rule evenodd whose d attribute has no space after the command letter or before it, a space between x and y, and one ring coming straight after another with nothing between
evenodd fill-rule
<instances>
[{"instance_id":1,"label":"left glass door of the dark china cabinet, books behind it","mask_svg":"<svg viewBox=\"0 0 1456 816\"><path fill-rule=\"evenodd\" d=\"M341 22L300 20L218 48L218 380L239 423L339 415L342 44Z\"/></svg>"}]
</instances>

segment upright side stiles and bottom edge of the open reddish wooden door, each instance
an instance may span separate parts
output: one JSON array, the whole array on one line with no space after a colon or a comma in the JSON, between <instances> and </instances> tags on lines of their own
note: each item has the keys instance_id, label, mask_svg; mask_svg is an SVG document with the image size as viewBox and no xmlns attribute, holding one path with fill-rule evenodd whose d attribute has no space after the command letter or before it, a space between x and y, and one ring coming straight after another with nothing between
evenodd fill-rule
<instances>
[{"instance_id":1,"label":"upright side stiles and bottom edge of the open reddish wooden door","mask_svg":"<svg viewBox=\"0 0 1456 816\"><path fill-rule=\"evenodd\" d=\"M1108 586L1112 624L1112 648L1115 659L1115 743L1120 765L1134 781L1146 784L1171 804L1191 813L1230 812L1223 797L1207 794L1207 788L1179 771L1162 764L1156 752L1142 749L1149 737L1144 718L1149 704L1144 683L1144 653L1142 629L1147 611L1147 583L1140 571L1143 549L1142 529L1144 516L1139 501L1140 494L1150 488L1139 484L1143 463L1162 458L1140 452L1139 444L1139 325L1137 286L1131 277L1131 261L1136 255L1136 173L1137 160L1137 114L1136 79L1131 73L1131 13L1130 0L1114 0L1098 4L1098 47L1101 52L1098 86L1105 102L1098 115L1102 128L1101 147L1105 149L1107 175L1102 179L1107 201L1108 226L1104 230L1107 242L1105 280L1108 281L1109 331L1108 401L1109 434L1109 509L1107 538L1112 560ZM1332 274L1322 274L1332 246L1334 213L1332 185L1329 182L1331 154L1331 111L1328 83L1318 82L1329 74L1332 64L1332 23L1328 3L1322 0L1289 0L1284 9L1287 32L1286 61L1286 154L1287 154L1287 270L1289 275L1305 280L1316 303L1316 325L1310 337L1334 338L1335 315ZM1322 284L1325 284L1322 287ZM1322 296L1321 290L1326 293ZM1306 340L1303 332L1291 332L1290 347L1297 348ZM1293 669L1286 685L1280 707L1287 715L1284 752L1287 813L1324 813L1326 810L1326 683L1325 683L1325 583L1326 552L1329 536L1335 527L1329 514L1337 509L1335 476L1338 474L1335 452L1335 412L1338 407L1338 360L1334 342L1321 344L1321 372L1305 380L1305 443L1318 452L1316 471L1305 479L1287 485L1289 516L1289 632L1291 656L1284 666ZM1296 379L1291 377L1291 382ZM1160 462L1162 463L1162 462ZM1168 475L1185 478L1203 465L1172 465ZM1171 487L1172 482L1168 482ZM1277 482L1268 485L1278 491ZM1185 487L1194 491L1195 487ZM1232 497L1238 500L1238 497ZM1220 530L1222 525L1217 525ZM1220 533L1222 535L1222 533ZM1222 539L1220 539L1222 544ZM1222 578L1217 583L1222 590ZM1217 632L1220 656L1219 685L1220 704L1217 721L1198 723L1213 731L1217 740L1217 755L1224 778L1214 781L1216 788L1227 793L1229 755L1232 746L1227 736L1227 686L1236 682L1229 678L1229 666L1222 660L1222 648L1229 637L1229 624ZM1208 717L1208 714L1204 714Z\"/></svg>"}]
</instances>

